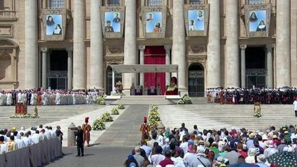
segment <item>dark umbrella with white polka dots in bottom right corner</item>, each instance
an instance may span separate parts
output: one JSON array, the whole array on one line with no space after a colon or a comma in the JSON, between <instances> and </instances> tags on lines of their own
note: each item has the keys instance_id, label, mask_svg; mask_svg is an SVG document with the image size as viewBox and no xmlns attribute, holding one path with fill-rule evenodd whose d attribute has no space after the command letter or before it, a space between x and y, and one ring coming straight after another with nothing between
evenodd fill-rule
<instances>
[{"instance_id":1,"label":"dark umbrella with white polka dots in bottom right corner","mask_svg":"<svg viewBox=\"0 0 297 167\"><path fill-rule=\"evenodd\" d=\"M294 152L282 151L267 158L270 164L278 166L297 166L297 154Z\"/></svg>"}]
</instances>

